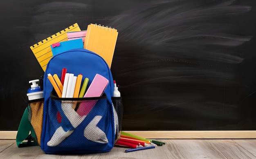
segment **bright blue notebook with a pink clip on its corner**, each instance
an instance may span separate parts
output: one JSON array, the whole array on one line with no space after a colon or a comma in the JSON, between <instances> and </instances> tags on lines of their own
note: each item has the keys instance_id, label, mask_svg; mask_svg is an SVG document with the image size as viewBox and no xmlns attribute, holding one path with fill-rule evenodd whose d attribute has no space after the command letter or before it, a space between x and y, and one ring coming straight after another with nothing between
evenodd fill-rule
<instances>
[{"instance_id":1,"label":"bright blue notebook with a pink clip on its corner","mask_svg":"<svg viewBox=\"0 0 256 159\"><path fill-rule=\"evenodd\" d=\"M69 40L65 42L57 42L51 45L52 55L57 55L71 49L83 49L83 40Z\"/></svg>"}]
</instances>

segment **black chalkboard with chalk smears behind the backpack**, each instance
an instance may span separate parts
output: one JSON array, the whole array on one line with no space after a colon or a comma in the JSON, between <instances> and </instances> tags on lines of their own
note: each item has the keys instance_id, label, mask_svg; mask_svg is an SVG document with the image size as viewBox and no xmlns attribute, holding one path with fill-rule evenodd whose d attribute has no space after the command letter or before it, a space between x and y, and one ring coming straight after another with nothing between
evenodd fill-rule
<instances>
[{"instance_id":1,"label":"black chalkboard with chalk smears behind the backpack","mask_svg":"<svg viewBox=\"0 0 256 159\"><path fill-rule=\"evenodd\" d=\"M17 130L28 81L43 70L29 46L78 23L115 27L111 71L124 130L256 130L255 0L4 0L0 130Z\"/></svg>"}]
</instances>

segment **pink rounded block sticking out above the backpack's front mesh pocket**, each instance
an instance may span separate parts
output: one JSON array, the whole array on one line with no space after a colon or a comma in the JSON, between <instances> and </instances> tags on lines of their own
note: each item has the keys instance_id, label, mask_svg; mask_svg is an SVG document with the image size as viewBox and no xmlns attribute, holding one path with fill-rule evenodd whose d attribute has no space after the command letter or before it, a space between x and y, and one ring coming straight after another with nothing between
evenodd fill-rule
<instances>
[{"instance_id":1,"label":"pink rounded block sticking out above the backpack's front mesh pocket","mask_svg":"<svg viewBox=\"0 0 256 159\"><path fill-rule=\"evenodd\" d=\"M108 79L96 74L83 97L100 97L108 85Z\"/></svg>"}]
</instances>

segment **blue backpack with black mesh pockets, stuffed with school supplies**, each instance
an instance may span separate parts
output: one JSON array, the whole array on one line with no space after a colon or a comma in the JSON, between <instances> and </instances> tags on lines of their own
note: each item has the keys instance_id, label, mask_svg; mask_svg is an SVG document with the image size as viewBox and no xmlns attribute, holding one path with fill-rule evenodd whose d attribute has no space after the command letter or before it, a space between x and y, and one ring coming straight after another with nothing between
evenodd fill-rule
<instances>
[{"instance_id":1,"label":"blue backpack with black mesh pockets, stuffed with school supplies","mask_svg":"<svg viewBox=\"0 0 256 159\"><path fill-rule=\"evenodd\" d=\"M89 78L88 86L96 74L109 80L101 97L59 98L47 75L61 77L67 73ZM113 97L114 83L108 64L96 53L86 49L73 49L52 57L43 79L43 124L40 147L47 154L98 153L110 151L121 135L123 106L121 97ZM79 107L94 105L89 113L79 114ZM32 124L33 126L33 124ZM33 126L34 127L34 126Z\"/></svg>"}]
</instances>

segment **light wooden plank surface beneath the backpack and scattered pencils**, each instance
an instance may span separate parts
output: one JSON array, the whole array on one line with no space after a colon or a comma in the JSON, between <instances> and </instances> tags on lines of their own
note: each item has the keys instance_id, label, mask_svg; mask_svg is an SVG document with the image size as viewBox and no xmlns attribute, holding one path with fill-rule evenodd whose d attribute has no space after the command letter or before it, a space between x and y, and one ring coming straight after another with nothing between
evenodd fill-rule
<instances>
[{"instance_id":1,"label":"light wooden plank surface beneath the backpack and scattered pencils","mask_svg":"<svg viewBox=\"0 0 256 159\"><path fill-rule=\"evenodd\" d=\"M149 150L124 152L128 148L115 146L110 152L81 155L48 155L39 146L18 148L12 144L0 152L1 159L256 159L255 141L232 139L157 139L166 144ZM2 141L6 143L7 141ZM13 142L9 142L13 143ZM238 144L239 143L239 144ZM240 146L242 145L242 146ZM246 150L249 148L249 150Z\"/></svg>"}]
</instances>

